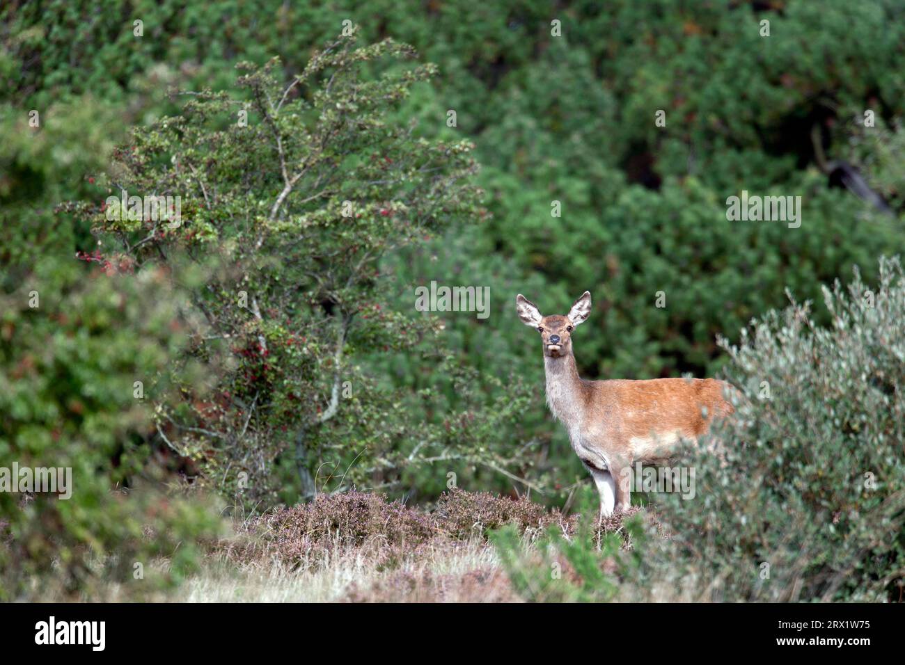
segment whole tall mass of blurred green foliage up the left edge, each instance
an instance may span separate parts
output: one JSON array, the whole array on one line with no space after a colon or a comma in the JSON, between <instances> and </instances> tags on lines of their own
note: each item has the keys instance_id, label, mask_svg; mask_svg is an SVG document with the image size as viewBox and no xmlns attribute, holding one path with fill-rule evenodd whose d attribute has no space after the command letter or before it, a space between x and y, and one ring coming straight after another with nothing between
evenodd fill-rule
<instances>
[{"instance_id":1,"label":"whole tall mass of blurred green foliage up the left edge","mask_svg":"<svg viewBox=\"0 0 905 665\"><path fill-rule=\"evenodd\" d=\"M4 600L102 594L110 582L142 597L177 582L219 532L204 497L167 492L178 463L148 445L151 394L185 343L178 293L159 272L111 278L76 261L87 225L53 214L90 191L88 174L112 149L97 121L111 117L87 100L61 102L30 128L3 110L0 467L71 469L69 499L0 492ZM156 556L171 563L163 575Z\"/></svg>"}]
</instances>

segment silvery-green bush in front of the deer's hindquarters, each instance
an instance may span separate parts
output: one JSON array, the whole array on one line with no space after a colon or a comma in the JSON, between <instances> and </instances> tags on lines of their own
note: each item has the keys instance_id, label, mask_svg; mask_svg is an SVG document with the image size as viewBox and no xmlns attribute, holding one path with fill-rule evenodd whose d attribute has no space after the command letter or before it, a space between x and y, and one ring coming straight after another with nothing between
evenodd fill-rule
<instances>
[{"instance_id":1,"label":"silvery-green bush in front of the deer's hindquarters","mask_svg":"<svg viewBox=\"0 0 905 665\"><path fill-rule=\"evenodd\" d=\"M876 286L855 270L824 288L824 305L830 327L793 300L723 344L739 391L714 432L724 452L697 448L696 498L661 502L672 561L703 600L901 600L900 261L881 260Z\"/></svg>"}]
</instances>

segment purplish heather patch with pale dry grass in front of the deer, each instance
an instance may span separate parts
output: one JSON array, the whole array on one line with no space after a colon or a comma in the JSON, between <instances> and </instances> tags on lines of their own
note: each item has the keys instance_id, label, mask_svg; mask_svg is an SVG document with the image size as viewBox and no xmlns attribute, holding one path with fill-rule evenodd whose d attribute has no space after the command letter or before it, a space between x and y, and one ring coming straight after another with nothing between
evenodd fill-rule
<instances>
[{"instance_id":1,"label":"purplish heather patch with pale dry grass in front of the deer","mask_svg":"<svg viewBox=\"0 0 905 665\"><path fill-rule=\"evenodd\" d=\"M631 515L639 510L633 508ZM310 600L311 589L319 589L327 596L317 600L341 602L522 602L531 598L513 584L504 565L510 552L501 554L497 546L501 533L526 565L543 565L548 546L574 541L579 533L588 538L583 546L593 551L604 541L617 557L632 547L623 517L598 522L543 508L527 497L462 489L444 493L429 509L358 491L319 496L236 526L233 537L221 540L210 554L212 564L232 571L225 575L230 582L217 584L254 589L270 579L286 590L284 600ZM565 553L554 558L572 583L584 584L582 575L587 575L591 584L615 572L613 556L594 556L595 563L580 572ZM241 583L236 570L245 575ZM353 574L344 579L349 570ZM293 583L300 580L310 588ZM207 584L195 581L189 593L209 594Z\"/></svg>"}]
</instances>

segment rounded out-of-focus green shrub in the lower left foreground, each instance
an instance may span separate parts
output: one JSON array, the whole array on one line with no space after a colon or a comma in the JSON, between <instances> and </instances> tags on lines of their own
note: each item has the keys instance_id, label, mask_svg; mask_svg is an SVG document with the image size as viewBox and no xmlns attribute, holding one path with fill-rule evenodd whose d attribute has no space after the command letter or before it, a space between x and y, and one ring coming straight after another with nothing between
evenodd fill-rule
<instances>
[{"instance_id":1,"label":"rounded out-of-focus green shrub in the lower left foreground","mask_svg":"<svg viewBox=\"0 0 905 665\"><path fill-rule=\"evenodd\" d=\"M220 522L204 498L167 491L166 460L147 444L178 298L160 274L74 258L17 276L0 290L0 460L71 469L71 496L0 491L0 598L102 597L108 584L141 597L178 582Z\"/></svg>"}]
</instances>

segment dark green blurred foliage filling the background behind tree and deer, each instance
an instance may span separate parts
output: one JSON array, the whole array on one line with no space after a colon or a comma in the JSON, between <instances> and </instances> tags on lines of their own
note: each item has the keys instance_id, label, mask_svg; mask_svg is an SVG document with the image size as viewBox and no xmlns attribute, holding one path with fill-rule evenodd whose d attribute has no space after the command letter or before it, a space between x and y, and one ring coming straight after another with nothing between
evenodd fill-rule
<instances>
[{"instance_id":1,"label":"dark green blurred foliage filling the background behind tree and deer","mask_svg":"<svg viewBox=\"0 0 905 665\"><path fill-rule=\"evenodd\" d=\"M345 20L366 43L391 36L438 65L433 84L414 86L395 118L418 119L418 136L474 140L483 165L476 183L492 215L383 265L400 278L389 290L397 312L411 311L412 281L491 287L491 318L442 315L444 346L480 371L476 387L488 394L495 388L486 377L513 366L540 385L537 349L511 315L519 290L549 311L592 291L595 311L576 340L586 375L703 374L723 362L716 335L735 339L749 318L782 305L786 287L814 298L855 264L870 277L877 255L903 246L895 153L864 149L881 135L882 146L900 143L905 24L895 2L790 2L777 11L667 0L605 10L382 0L114 6L7 5L0 75L8 102L40 109L90 96L146 127L179 109L165 90L231 89L234 62L279 55L290 75L302 71ZM562 36L551 34L554 19ZM760 36L762 19L769 37ZM458 127L446 126L448 109ZM654 123L660 109L665 127ZM875 111L876 128L852 121L864 109ZM828 186L814 130L826 157L862 166L897 215ZM743 189L801 195L801 228L727 221L726 198ZM553 201L561 217L551 217ZM665 308L654 307L658 291ZM449 385L417 354L391 351L374 364L391 391ZM470 410L441 390L442 408ZM569 472L558 480L581 478L540 399L534 407L523 420L539 446L526 458L539 467L532 473L547 484L548 461L562 458ZM415 484L435 493L444 473Z\"/></svg>"}]
</instances>

